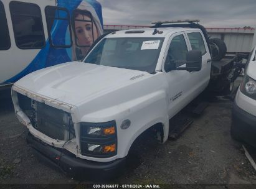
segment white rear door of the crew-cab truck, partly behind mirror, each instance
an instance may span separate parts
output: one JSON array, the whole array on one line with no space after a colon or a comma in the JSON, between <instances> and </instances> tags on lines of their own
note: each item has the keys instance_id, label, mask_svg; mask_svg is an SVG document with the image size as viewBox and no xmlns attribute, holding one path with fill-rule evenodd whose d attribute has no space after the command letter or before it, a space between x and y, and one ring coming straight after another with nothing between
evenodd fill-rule
<instances>
[{"instance_id":1,"label":"white rear door of the crew-cab truck, partly behind mirror","mask_svg":"<svg viewBox=\"0 0 256 189\"><path fill-rule=\"evenodd\" d=\"M211 53L209 52L206 39L201 31L191 30L186 32L187 40L189 41L189 50L201 50L202 53L202 69L192 72L196 80L195 88L201 93L209 83L211 75Z\"/></svg>"}]
</instances>

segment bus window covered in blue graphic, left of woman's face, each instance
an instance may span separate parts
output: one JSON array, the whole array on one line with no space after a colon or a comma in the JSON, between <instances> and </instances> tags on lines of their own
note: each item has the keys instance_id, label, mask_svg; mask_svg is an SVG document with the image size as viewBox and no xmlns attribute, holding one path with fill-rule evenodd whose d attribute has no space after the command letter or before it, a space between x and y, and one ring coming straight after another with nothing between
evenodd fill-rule
<instances>
[{"instance_id":1,"label":"bus window covered in blue graphic, left of woman's face","mask_svg":"<svg viewBox=\"0 0 256 189\"><path fill-rule=\"evenodd\" d=\"M55 48L72 46L69 12L62 7L45 7L50 45ZM58 26L58 27L56 27Z\"/></svg>"}]
</instances>

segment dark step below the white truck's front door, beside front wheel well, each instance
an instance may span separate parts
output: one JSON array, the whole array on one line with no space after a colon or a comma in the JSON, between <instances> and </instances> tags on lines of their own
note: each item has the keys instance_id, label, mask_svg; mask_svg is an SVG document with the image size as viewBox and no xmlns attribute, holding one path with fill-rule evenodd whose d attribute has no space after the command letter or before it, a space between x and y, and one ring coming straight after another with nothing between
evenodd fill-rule
<instances>
[{"instance_id":1,"label":"dark step below the white truck's front door, beside front wheel well","mask_svg":"<svg viewBox=\"0 0 256 189\"><path fill-rule=\"evenodd\" d=\"M175 119L175 118L174 118ZM189 118L170 120L172 125L172 131L169 132L169 140L176 140L185 131L185 129L192 124L192 120Z\"/></svg>"}]
</instances>

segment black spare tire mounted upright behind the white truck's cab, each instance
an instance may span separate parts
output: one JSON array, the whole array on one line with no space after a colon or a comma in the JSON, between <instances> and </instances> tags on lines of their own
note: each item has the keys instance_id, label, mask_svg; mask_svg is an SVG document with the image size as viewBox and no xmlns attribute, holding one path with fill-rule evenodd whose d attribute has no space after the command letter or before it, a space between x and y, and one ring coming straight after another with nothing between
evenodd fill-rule
<instances>
[{"instance_id":1,"label":"black spare tire mounted upright behind the white truck's cab","mask_svg":"<svg viewBox=\"0 0 256 189\"><path fill-rule=\"evenodd\" d=\"M227 52L227 46L224 41L218 38L210 39L211 51L212 51L212 60L219 61L224 58L225 53Z\"/></svg>"}]
</instances>

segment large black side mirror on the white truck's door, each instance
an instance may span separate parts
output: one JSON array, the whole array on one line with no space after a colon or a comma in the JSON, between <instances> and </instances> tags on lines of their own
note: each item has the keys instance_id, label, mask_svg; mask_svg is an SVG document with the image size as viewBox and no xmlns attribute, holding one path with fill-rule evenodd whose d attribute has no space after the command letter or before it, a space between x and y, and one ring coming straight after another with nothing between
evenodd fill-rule
<instances>
[{"instance_id":1,"label":"large black side mirror on the white truck's door","mask_svg":"<svg viewBox=\"0 0 256 189\"><path fill-rule=\"evenodd\" d=\"M200 50L189 50L186 56L186 70L200 71L202 68L202 53Z\"/></svg>"}]
</instances>

